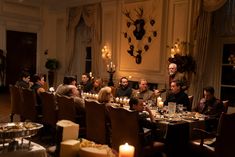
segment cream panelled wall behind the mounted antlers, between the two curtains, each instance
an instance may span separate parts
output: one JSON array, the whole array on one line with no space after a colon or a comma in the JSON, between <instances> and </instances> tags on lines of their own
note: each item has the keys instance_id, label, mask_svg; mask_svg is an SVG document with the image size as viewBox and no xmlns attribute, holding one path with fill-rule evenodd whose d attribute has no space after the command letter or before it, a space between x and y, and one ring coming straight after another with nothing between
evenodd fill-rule
<instances>
[{"instance_id":1,"label":"cream panelled wall behind the mounted antlers, between the two curtains","mask_svg":"<svg viewBox=\"0 0 235 157\"><path fill-rule=\"evenodd\" d=\"M103 44L108 43L115 56L113 61L117 65L116 79L121 76L132 76L131 80L135 81L146 78L164 88L168 83L167 60L170 55L166 47L173 45L177 38L181 41L188 41L190 38L190 5L188 0L122 0L118 4L103 2ZM150 49L143 53L142 63L136 64L135 59L127 53L129 45L122 32L128 29L122 12L127 9L133 13L139 7L144 8L145 18L154 17L154 29L158 35L153 38Z\"/></svg>"}]
</instances>

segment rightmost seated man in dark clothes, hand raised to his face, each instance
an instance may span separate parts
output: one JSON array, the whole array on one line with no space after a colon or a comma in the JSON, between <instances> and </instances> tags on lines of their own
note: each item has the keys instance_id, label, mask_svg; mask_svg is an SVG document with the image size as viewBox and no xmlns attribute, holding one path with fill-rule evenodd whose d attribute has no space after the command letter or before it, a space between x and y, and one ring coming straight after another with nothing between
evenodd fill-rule
<instances>
[{"instance_id":1,"label":"rightmost seated man in dark clothes, hand raised to his face","mask_svg":"<svg viewBox=\"0 0 235 157\"><path fill-rule=\"evenodd\" d=\"M214 92L213 87L203 88L203 98L193 111L219 118L224 111L224 106L222 101L214 96Z\"/></svg>"}]
</instances>

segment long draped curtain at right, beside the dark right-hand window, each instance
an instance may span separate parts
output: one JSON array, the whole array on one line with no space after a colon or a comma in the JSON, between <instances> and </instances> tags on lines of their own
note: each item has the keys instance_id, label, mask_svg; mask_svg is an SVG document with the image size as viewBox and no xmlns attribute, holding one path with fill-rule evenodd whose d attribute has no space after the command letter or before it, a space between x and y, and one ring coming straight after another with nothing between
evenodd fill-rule
<instances>
[{"instance_id":1,"label":"long draped curtain at right, beside the dark right-hand window","mask_svg":"<svg viewBox=\"0 0 235 157\"><path fill-rule=\"evenodd\" d=\"M193 56L197 63L196 75L191 83L191 90L194 93L193 106L199 102L202 97L202 89L206 81L207 61L209 60L208 45L210 39L212 12L225 4L226 0L195 0L193 5Z\"/></svg>"}]
</instances>

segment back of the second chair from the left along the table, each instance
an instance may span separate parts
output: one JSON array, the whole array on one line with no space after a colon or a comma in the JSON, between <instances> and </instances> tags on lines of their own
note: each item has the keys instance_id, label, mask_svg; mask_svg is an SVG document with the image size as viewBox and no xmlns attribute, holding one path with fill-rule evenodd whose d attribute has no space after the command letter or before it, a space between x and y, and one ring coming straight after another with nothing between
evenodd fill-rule
<instances>
[{"instance_id":1,"label":"back of the second chair from the left along the table","mask_svg":"<svg viewBox=\"0 0 235 157\"><path fill-rule=\"evenodd\" d=\"M25 120L37 121L36 94L30 89L20 89L22 92L22 116Z\"/></svg>"}]
</instances>

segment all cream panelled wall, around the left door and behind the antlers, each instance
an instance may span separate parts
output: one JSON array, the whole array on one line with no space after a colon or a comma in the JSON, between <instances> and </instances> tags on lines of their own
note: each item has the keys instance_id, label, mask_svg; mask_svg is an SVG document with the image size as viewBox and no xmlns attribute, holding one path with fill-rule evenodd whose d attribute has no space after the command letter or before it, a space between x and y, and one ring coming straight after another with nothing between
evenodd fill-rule
<instances>
[{"instance_id":1,"label":"all cream panelled wall, around the left door and behind the antlers","mask_svg":"<svg viewBox=\"0 0 235 157\"><path fill-rule=\"evenodd\" d=\"M99 0L97 0L99 1ZM132 76L132 80L146 78L149 82L165 87L168 80L167 66L169 49L177 38L189 39L190 1L188 0L109 0L102 1L102 45L108 44L113 62L117 65L115 78ZM122 32L126 31L124 9L133 10L143 6L146 17L156 19L158 35L153 39L150 49L143 54L141 64L136 64L128 53L128 45ZM35 32L38 35L37 71L46 73L47 58L57 58L61 68L57 72L57 84L65 73L66 56L66 8L51 10L45 6L29 6L0 1L0 48L5 50L7 29ZM48 55L44 52L48 50ZM101 55L100 55L101 56ZM101 59L99 75L108 77L106 63Z\"/></svg>"}]
</instances>

